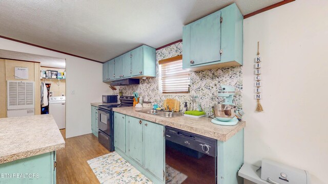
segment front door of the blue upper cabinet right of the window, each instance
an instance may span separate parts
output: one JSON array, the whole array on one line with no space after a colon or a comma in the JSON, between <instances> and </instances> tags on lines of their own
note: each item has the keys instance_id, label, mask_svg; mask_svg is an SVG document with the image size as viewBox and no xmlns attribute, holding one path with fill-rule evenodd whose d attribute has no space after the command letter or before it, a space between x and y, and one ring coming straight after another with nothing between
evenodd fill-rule
<instances>
[{"instance_id":1,"label":"front door of the blue upper cabinet right of the window","mask_svg":"<svg viewBox=\"0 0 328 184\"><path fill-rule=\"evenodd\" d=\"M190 24L190 65L220 61L221 12Z\"/></svg>"}]
</instances>

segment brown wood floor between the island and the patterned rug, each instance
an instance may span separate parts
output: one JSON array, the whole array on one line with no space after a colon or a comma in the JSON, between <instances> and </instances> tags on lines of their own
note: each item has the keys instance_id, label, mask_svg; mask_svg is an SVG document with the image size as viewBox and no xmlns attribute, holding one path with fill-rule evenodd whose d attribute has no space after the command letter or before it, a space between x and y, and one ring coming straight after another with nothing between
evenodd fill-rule
<instances>
[{"instance_id":1,"label":"brown wood floor between the island and the patterned rug","mask_svg":"<svg viewBox=\"0 0 328 184\"><path fill-rule=\"evenodd\" d=\"M65 129L60 130L65 139ZM99 144L93 134L65 139L65 149L56 153L56 182L66 183L99 183L87 160L109 153Z\"/></svg>"}]
</instances>

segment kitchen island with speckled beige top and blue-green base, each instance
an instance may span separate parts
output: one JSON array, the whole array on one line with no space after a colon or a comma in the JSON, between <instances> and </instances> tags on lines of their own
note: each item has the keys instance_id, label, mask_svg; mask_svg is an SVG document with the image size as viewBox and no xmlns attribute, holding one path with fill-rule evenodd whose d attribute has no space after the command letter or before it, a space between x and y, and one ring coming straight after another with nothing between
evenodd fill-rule
<instances>
[{"instance_id":1,"label":"kitchen island with speckled beige top and blue-green base","mask_svg":"<svg viewBox=\"0 0 328 184\"><path fill-rule=\"evenodd\" d=\"M51 114L0 119L0 183L55 183L65 141Z\"/></svg>"}]
</instances>

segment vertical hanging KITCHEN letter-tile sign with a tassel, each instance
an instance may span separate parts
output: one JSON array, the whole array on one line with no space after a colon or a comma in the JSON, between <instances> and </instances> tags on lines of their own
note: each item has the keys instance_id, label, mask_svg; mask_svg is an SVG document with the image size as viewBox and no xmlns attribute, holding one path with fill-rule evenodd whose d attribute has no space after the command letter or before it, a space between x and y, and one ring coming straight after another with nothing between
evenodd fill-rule
<instances>
[{"instance_id":1,"label":"vertical hanging KITCHEN letter-tile sign with a tassel","mask_svg":"<svg viewBox=\"0 0 328 184\"><path fill-rule=\"evenodd\" d=\"M260 47L260 42L258 41L257 42L257 57L255 58L255 64L254 64L254 74L255 74L255 83L254 83L254 87L255 87L255 90L254 90L254 98L255 100L257 101L257 105L256 105L256 111L257 112L261 112L263 111L263 108L262 108L262 105L260 103L260 100L262 98L262 95L261 95L261 85L262 85L262 82L261 82L261 62L262 62L262 58L260 57L260 52L259 52L259 47Z\"/></svg>"}]
</instances>

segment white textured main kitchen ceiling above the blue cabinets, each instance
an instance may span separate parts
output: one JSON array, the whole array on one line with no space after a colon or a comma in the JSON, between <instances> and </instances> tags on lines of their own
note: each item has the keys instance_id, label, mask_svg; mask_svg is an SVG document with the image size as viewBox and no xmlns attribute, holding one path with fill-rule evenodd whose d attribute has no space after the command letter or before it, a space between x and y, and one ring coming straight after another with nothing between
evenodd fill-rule
<instances>
[{"instance_id":1,"label":"white textured main kitchen ceiling above the blue cabinets","mask_svg":"<svg viewBox=\"0 0 328 184\"><path fill-rule=\"evenodd\" d=\"M182 26L236 3L243 15L281 0L0 1L0 35L97 61L182 38Z\"/></svg>"}]
</instances>

